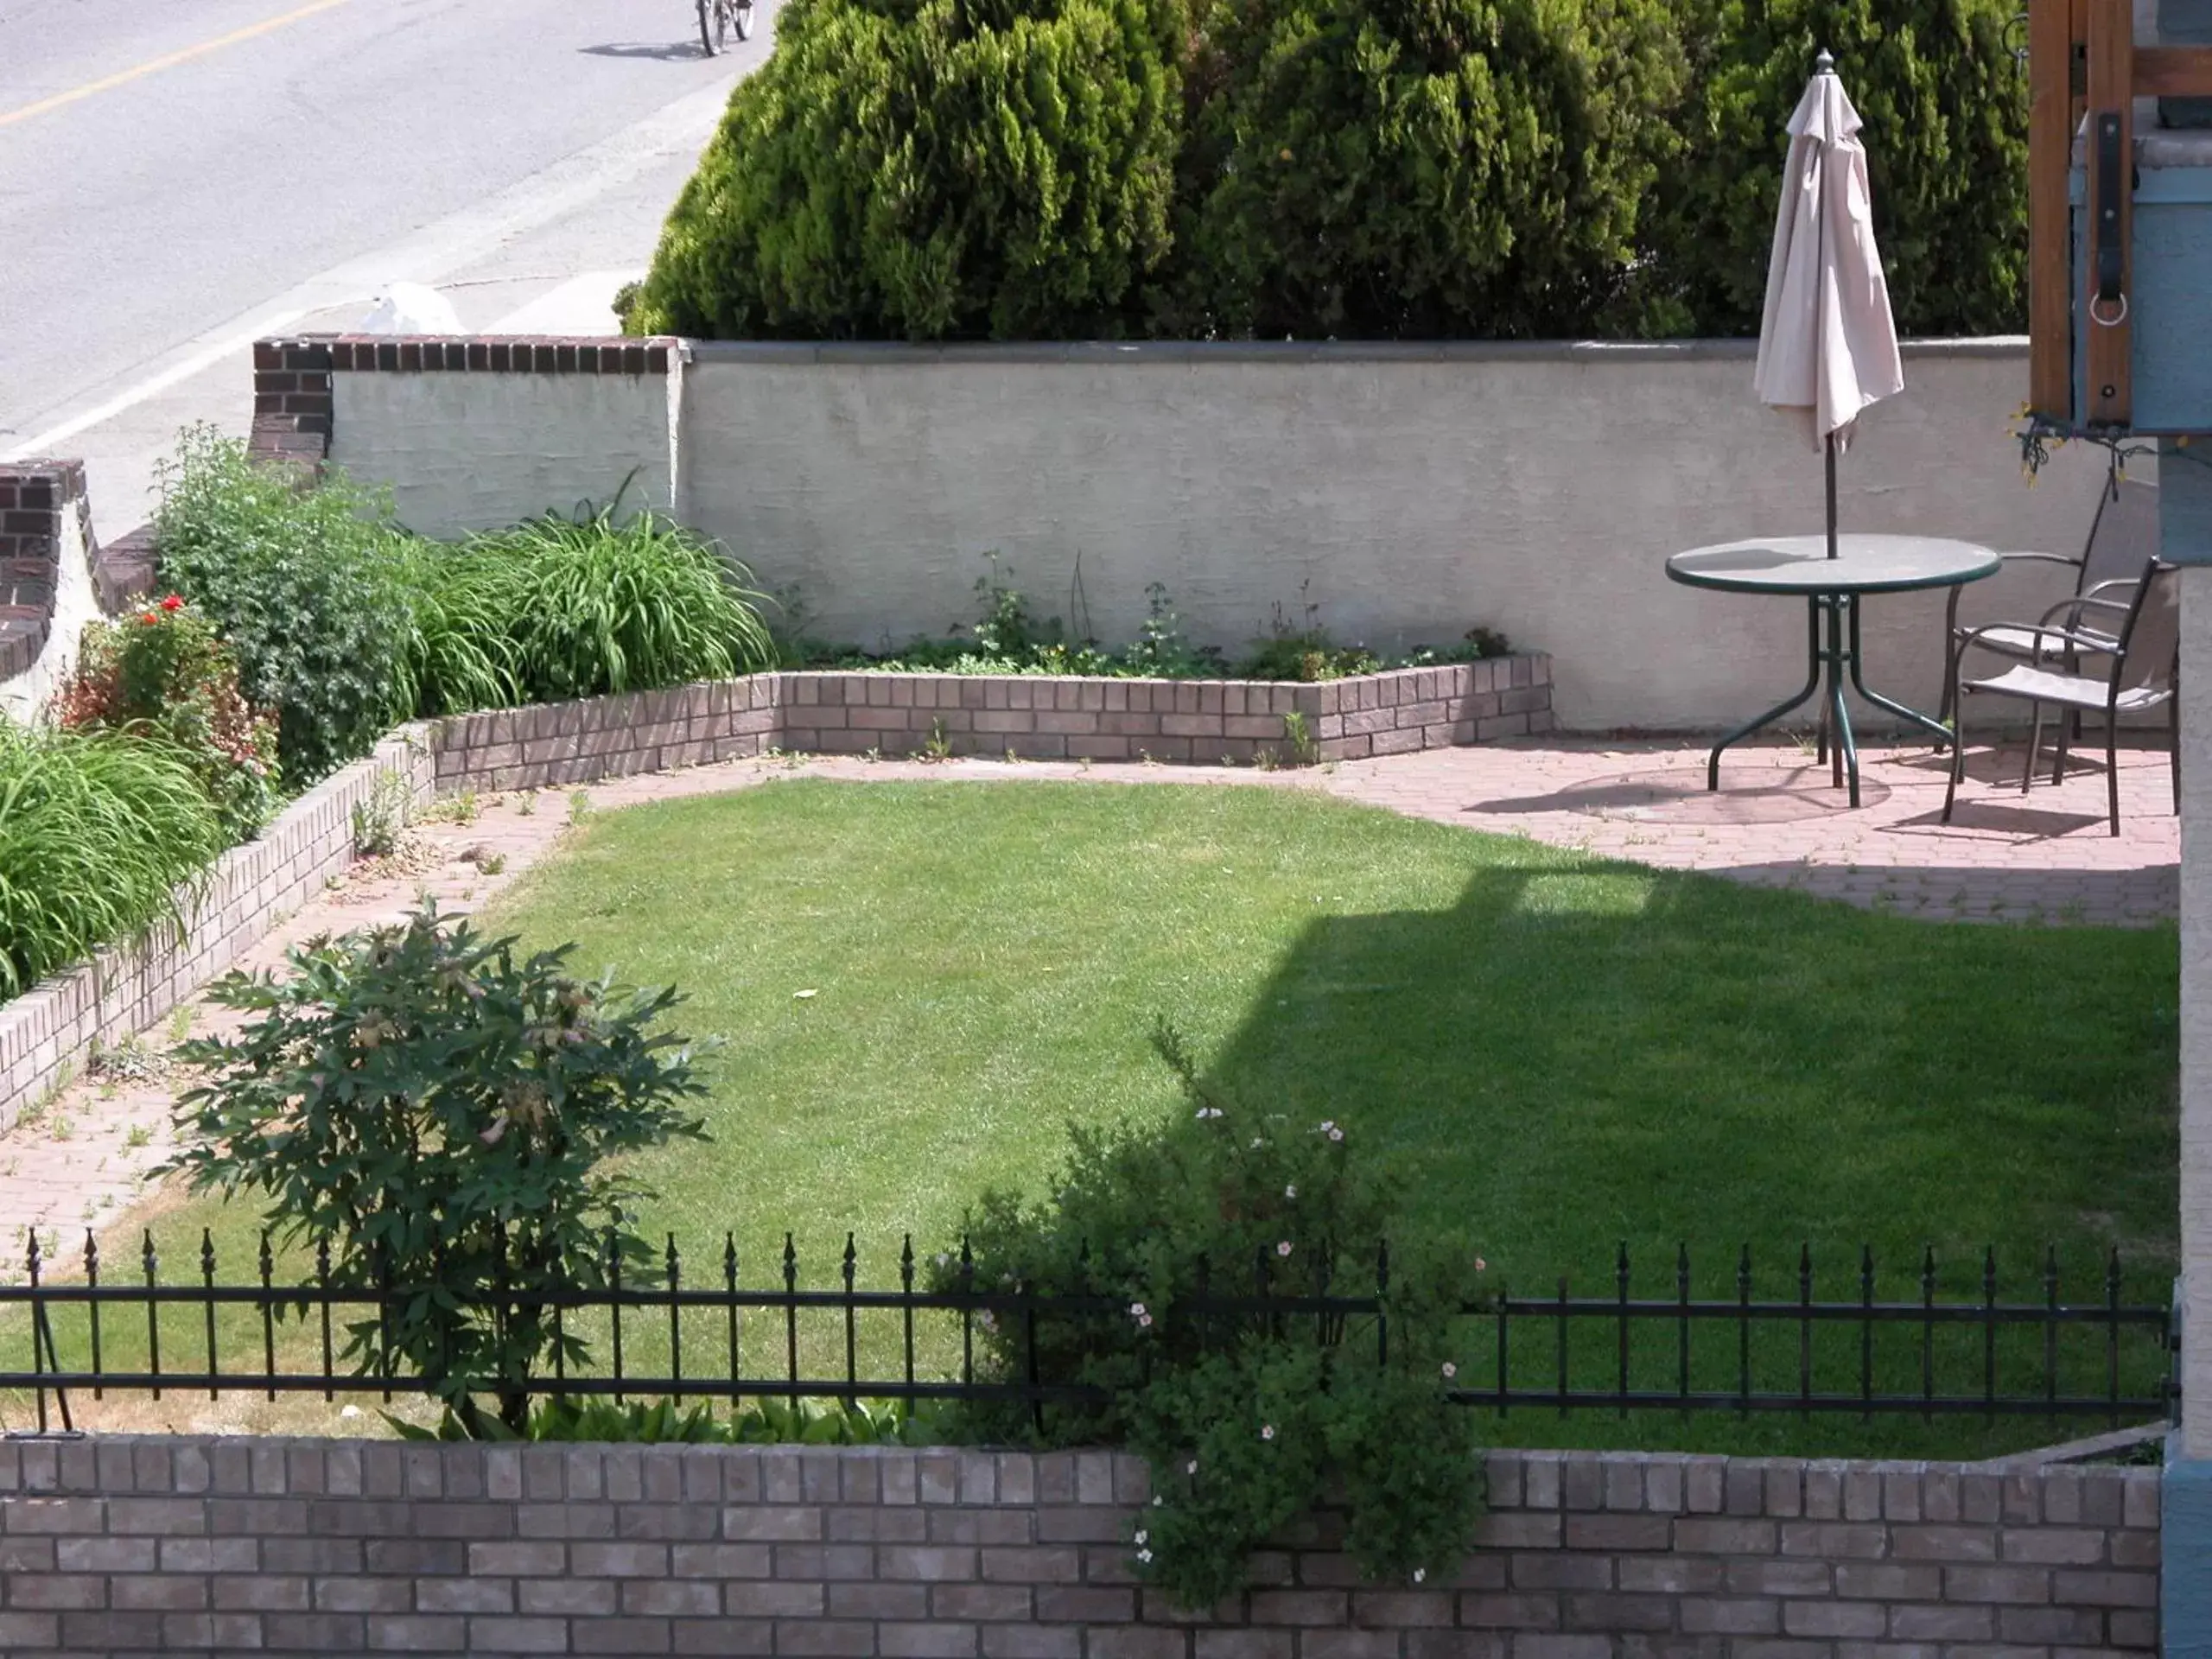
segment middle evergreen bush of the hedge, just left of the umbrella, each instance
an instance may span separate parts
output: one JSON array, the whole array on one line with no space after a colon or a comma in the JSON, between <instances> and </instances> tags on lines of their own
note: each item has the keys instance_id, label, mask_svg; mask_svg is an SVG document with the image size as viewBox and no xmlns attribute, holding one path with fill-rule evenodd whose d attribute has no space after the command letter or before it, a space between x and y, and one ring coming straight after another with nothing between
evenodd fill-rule
<instances>
[{"instance_id":1,"label":"middle evergreen bush of the hedge, just left of the umbrella","mask_svg":"<svg viewBox=\"0 0 2212 1659\"><path fill-rule=\"evenodd\" d=\"M1666 0L1214 0L1166 332L1582 334L1674 148Z\"/></svg>"}]
</instances>

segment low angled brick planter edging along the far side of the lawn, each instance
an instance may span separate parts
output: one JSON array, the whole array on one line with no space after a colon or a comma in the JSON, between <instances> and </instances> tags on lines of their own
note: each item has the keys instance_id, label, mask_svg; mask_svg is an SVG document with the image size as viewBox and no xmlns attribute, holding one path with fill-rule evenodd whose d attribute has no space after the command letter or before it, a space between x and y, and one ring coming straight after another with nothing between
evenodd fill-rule
<instances>
[{"instance_id":1,"label":"low angled brick planter edging along the far side of the lawn","mask_svg":"<svg viewBox=\"0 0 2212 1659\"><path fill-rule=\"evenodd\" d=\"M431 732L438 785L520 790L770 748L1245 765L1352 761L1551 730L1551 657L1402 668L1323 686L1031 675L752 675L666 692L462 714Z\"/></svg>"}]
</instances>

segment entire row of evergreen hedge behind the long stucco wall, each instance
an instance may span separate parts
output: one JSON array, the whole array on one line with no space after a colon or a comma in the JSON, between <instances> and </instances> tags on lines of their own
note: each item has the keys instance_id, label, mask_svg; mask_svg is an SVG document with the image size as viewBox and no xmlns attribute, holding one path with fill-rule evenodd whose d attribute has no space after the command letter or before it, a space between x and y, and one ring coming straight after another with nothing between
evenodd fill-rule
<instances>
[{"instance_id":1,"label":"entire row of evergreen hedge behind the long stucco wall","mask_svg":"<svg viewBox=\"0 0 2212 1659\"><path fill-rule=\"evenodd\" d=\"M2015 0L792 0L633 332L1528 338L1759 327L1836 53L1900 327L2024 314Z\"/></svg>"}]
</instances>

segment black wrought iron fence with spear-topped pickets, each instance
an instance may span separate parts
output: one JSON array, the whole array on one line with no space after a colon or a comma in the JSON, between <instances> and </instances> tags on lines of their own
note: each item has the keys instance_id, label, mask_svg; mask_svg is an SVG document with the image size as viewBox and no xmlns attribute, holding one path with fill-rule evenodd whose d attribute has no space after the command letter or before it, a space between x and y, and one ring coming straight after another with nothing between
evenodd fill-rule
<instances>
[{"instance_id":1,"label":"black wrought iron fence with spear-topped pickets","mask_svg":"<svg viewBox=\"0 0 2212 1659\"><path fill-rule=\"evenodd\" d=\"M858 1283L845 1241L836 1283L803 1287L799 1252L783 1241L779 1283L748 1285L726 1234L719 1274L686 1283L670 1237L653 1283L540 1287L529 1303L553 1312L557 1334L588 1327L593 1367L573 1367L555 1345L553 1369L522 1383L484 1380L482 1391L520 1387L535 1396L628 1396L743 1400L969 1400L1097 1407L1099 1387L1057 1376L1079 1327L1126 1318L1104 1294L1042 1294L989 1285L962 1248L938 1283L918 1270L911 1239L898 1285ZM199 1281L164 1283L146 1234L137 1270L117 1283L86 1237L82 1259L58 1263L33 1239L20 1283L0 1285L0 1391L35 1396L38 1427L49 1400L71 1420L69 1394L164 1391L431 1394L431 1378L392 1356L394 1310L427 1294L378 1283L343 1285L332 1245L312 1250L312 1276L283 1283L261 1239L252 1283L219 1283L217 1250L201 1234ZM62 1267L66 1276L55 1276ZM1816 1294L1814 1252L1785 1270L1790 1294L1761 1290L1750 1248L1723 1274L1732 1294L1694 1294L1688 1248L1677 1250L1663 1294L1639 1294L1621 1245L1604 1294L1575 1294L1557 1279L1548 1294L1504 1283L1469 1303L1453 1334L1451 1398L1467 1407L1573 1411L1801 1411L2106 1418L2115 1427L2179 1409L2179 1327L2170 1305L2126 1303L2119 1252L2093 1279L2088 1298L2068 1301L2055 1250L2033 1272L2033 1298L2000 1296L1995 1252L1978 1263L1978 1294L1940 1290L1933 1248L1911 1270L1913 1294L1880 1296L1874 1252L1860 1250L1851 1294ZM1369 1274L1360 1274L1369 1279ZM1164 1316L1199 1343L1267 1327L1314 1340L1369 1345L1389 1363L1389 1252L1371 1283L1345 1292L1345 1272L1323 1261L1298 1287L1263 1256L1250 1287L1228 1292L1201 1270L1201 1292ZM1955 1283L1955 1281L1953 1281ZM2079 1281L2077 1281L2079 1283ZM1772 1279L1767 1281L1772 1287ZM471 1305L513 1307L484 1287ZM18 1314L15 1310L22 1310ZM341 1334L365 1332L367 1358L343 1367ZM378 1340L380 1334L380 1340ZM982 1360L978 1360L982 1334ZM1168 1332L1161 1332L1164 1336ZM228 1354L226 1354L228 1345ZM248 1356L239 1358L239 1347ZM597 1363L604 1358L604 1367ZM765 1358L765 1365L763 1365ZM29 1363L24 1363L29 1360ZM639 1369L644 1360L644 1369Z\"/></svg>"}]
</instances>

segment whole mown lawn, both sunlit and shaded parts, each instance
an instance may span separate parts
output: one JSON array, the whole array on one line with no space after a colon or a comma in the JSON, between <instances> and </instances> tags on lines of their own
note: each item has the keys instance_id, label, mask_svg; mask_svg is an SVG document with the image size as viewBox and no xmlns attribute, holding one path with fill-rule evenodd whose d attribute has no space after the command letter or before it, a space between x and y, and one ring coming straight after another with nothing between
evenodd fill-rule
<instances>
[{"instance_id":1,"label":"whole mown lawn, both sunlit and shaded parts","mask_svg":"<svg viewBox=\"0 0 2212 1659\"><path fill-rule=\"evenodd\" d=\"M1927 925L1290 790L821 781L595 816L495 920L681 987L684 1029L723 1040L712 1144L641 1170L646 1228L708 1281L723 1230L750 1283L790 1230L834 1283L849 1230L860 1281L896 1283L905 1234L938 1250L984 1188L1044 1190L1068 1124L1183 1110L1157 1018L1239 1099L1343 1121L1522 1290L1610 1292L1621 1243L1655 1296L1679 1243L1699 1294L1734 1294L1743 1245L1770 1296L1805 1243L1836 1298L1863 1245L1898 1298L1927 1245L1947 1294L1984 1248L2013 1298L2046 1245L2068 1298L2115 1245L2130 1301L2172 1276L2170 929ZM170 1263L208 1219L164 1219ZM250 1261L250 1219L215 1225ZM1502 1433L1918 1453L2046 1427Z\"/></svg>"}]
</instances>

